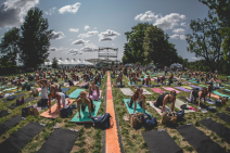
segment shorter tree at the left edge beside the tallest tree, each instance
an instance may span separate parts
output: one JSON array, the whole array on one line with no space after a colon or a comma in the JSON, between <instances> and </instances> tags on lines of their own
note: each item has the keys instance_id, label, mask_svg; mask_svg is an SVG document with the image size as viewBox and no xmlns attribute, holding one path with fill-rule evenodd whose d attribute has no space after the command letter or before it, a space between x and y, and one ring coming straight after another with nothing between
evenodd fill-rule
<instances>
[{"instance_id":1,"label":"shorter tree at the left edge beside the tallest tree","mask_svg":"<svg viewBox=\"0 0 230 153\"><path fill-rule=\"evenodd\" d=\"M16 65L16 58L20 51L18 40L20 40L20 29L13 27L12 29L10 29L4 34L0 43L1 53L4 54L7 59L9 59L10 64L12 66Z\"/></svg>"}]
</instances>

